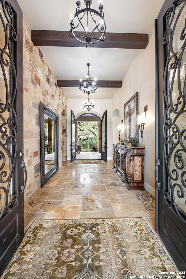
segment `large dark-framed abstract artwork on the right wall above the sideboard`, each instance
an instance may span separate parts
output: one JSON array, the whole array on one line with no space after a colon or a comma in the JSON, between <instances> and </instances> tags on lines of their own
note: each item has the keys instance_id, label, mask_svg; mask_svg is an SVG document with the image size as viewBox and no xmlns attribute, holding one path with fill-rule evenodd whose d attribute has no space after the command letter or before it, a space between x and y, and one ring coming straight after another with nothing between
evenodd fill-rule
<instances>
[{"instance_id":1,"label":"large dark-framed abstract artwork on the right wall above the sideboard","mask_svg":"<svg viewBox=\"0 0 186 279\"><path fill-rule=\"evenodd\" d=\"M138 92L136 92L124 104L125 137L136 138L138 140Z\"/></svg>"}]
</instances>

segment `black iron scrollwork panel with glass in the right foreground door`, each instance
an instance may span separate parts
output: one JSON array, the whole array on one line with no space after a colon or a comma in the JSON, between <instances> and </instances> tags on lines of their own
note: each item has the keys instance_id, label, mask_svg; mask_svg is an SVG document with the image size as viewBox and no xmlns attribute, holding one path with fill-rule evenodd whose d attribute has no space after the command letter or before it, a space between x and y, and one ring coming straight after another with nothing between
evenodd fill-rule
<instances>
[{"instance_id":1,"label":"black iron scrollwork panel with glass in the right foreground door","mask_svg":"<svg viewBox=\"0 0 186 279\"><path fill-rule=\"evenodd\" d=\"M186 5L173 4L166 16L164 69L164 158L168 174L164 201L186 221ZM181 31L180 31L181 30Z\"/></svg>"}]
</instances>

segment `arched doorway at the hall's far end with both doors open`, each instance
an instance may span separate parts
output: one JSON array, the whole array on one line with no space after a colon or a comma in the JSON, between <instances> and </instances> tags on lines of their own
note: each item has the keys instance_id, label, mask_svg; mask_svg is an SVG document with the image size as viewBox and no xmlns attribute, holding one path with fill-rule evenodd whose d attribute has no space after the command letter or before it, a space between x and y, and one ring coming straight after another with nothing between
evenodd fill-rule
<instances>
[{"instance_id":1,"label":"arched doorway at the hall's far end with both doors open","mask_svg":"<svg viewBox=\"0 0 186 279\"><path fill-rule=\"evenodd\" d=\"M106 161L106 112L103 117L92 112L71 111L71 161L103 159Z\"/></svg>"}]
</instances>

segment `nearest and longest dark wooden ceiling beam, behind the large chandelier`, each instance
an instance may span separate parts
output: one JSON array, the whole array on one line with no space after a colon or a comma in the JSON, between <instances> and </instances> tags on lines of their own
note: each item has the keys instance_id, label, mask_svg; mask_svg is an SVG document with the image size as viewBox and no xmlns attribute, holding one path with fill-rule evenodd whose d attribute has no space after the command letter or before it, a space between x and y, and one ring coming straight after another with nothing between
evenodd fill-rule
<instances>
[{"instance_id":1,"label":"nearest and longest dark wooden ceiling beam, behind the large chandelier","mask_svg":"<svg viewBox=\"0 0 186 279\"><path fill-rule=\"evenodd\" d=\"M77 33L83 35L82 32ZM35 46L86 47L85 44L71 38L69 31L31 30L31 40ZM148 43L148 34L105 33L105 41L90 44L88 47L145 49Z\"/></svg>"}]
</instances>

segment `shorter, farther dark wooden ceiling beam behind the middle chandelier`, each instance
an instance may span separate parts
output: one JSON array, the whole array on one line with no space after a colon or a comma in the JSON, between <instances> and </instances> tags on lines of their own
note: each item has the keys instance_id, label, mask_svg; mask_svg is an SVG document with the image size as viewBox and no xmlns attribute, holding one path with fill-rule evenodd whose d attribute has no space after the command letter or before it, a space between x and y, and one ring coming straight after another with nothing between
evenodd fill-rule
<instances>
[{"instance_id":1,"label":"shorter, farther dark wooden ceiling beam behind the middle chandelier","mask_svg":"<svg viewBox=\"0 0 186 279\"><path fill-rule=\"evenodd\" d=\"M58 79L58 87L79 87L79 81ZM97 81L98 87L120 88L122 81Z\"/></svg>"}]
</instances>

